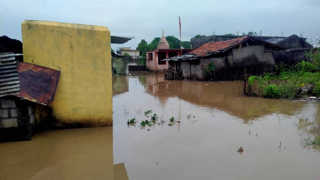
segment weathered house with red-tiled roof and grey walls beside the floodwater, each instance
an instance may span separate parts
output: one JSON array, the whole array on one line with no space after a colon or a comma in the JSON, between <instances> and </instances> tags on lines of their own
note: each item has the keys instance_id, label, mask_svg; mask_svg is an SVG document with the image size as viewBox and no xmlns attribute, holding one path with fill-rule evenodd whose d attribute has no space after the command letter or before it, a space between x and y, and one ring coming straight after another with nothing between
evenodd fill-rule
<instances>
[{"instance_id":1,"label":"weathered house with red-tiled roof and grey walls beside the floodwater","mask_svg":"<svg viewBox=\"0 0 320 180\"><path fill-rule=\"evenodd\" d=\"M216 80L235 80L243 77L244 67L252 75L274 69L275 51L285 48L252 36L200 45L181 56L165 59L174 62L185 78L204 79L208 65L214 63Z\"/></svg>"}]
</instances>

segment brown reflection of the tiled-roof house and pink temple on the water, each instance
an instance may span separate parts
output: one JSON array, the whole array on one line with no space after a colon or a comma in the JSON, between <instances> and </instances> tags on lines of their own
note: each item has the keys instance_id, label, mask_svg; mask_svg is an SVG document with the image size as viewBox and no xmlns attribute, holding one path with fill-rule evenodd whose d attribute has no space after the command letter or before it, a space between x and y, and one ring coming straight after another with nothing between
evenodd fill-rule
<instances>
[{"instance_id":1,"label":"brown reflection of the tiled-roof house and pink temple on the water","mask_svg":"<svg viewBox=\"0 0 320 180\"><path fill-rule=\"evenodd\" d=\"M299 113L301 107L308 102L279 101L245 97L241 93L241 82L201 82L164 80L163 74L158 75L160 86L154 86L157 78L153 75L141 76L139 81L146 92L156 96L161 105L165 106L168 98L178 97L198 106L208 106L228 112L244 123L259 120L262 116L278 112L292 116Z\"/></svg>"}]
</instances>

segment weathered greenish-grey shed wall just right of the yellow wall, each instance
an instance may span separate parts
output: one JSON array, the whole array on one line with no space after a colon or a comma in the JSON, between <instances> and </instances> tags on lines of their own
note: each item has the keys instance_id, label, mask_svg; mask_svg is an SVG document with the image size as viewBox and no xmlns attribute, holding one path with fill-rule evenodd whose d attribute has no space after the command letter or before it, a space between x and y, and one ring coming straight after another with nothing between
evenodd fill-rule
<instances>
[{"instance_id":1,"label":"weathered greenish-grey shed wall just right of the yellow wall","mask_svg":"<svg viewBox=\"0 0 320 180\"><path fill-rule=\"evenodd\" d=\"M127 58L112 56L112 75L128 75L129 62Z\"/></svg>"}]
</instances>

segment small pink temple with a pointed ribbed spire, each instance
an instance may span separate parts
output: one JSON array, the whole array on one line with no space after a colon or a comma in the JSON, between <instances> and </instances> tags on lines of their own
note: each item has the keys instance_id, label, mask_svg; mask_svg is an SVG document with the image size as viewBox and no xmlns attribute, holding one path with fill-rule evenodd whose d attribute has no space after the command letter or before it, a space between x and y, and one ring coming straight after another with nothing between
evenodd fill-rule
<instances>
[{"instance_id":1,"label":"small pink temple with a pointed ribbed spire","mask_svg":"<svg viewBox=\"0 0 320 180\"><path fill-rule=\"evenodd\" d=\"M170 49L168 41L164 37L164 32L162 32L162 37L158 43L157 49L146 51L147 54L147 70L148 71L161 71L164 69L175 69L174 62L162 61L166 58L171 58L173 56L180 56L187 53L190 49Z\"/></svg>"}]
</instances>

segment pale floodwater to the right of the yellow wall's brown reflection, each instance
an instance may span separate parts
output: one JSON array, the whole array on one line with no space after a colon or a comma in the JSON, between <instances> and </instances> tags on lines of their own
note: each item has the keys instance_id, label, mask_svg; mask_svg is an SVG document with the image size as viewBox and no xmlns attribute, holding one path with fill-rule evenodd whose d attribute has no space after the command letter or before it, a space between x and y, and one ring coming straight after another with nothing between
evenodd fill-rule
<instances>
[{"instance_id":1,"label":"pale floodwater to the right of the yellow wall's brown reflection","mask_svg":"<svg viewBox=\"0 0 320 180\"><path fill-rule=\"evenodd\" d=\"M130 180L320 179L320 146L303 140L320 136L318 102L246 97L238 82L158 81L142 72L114 78L114 163ZM141 129L146 110L159 118ZM168 126L172 116L181 123Z\"/></svg>"}]
</instances>

